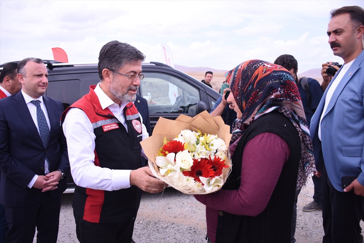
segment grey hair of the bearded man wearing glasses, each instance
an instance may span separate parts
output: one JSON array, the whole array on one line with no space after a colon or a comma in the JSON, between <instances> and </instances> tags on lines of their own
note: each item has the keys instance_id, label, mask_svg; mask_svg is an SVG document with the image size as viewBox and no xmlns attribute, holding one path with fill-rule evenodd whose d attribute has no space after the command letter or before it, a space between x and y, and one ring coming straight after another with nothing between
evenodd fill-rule
<instances>
[{"instance_id":1,"label":"grey hair of the bearded man wearing glasses","mask_svg":"<svg viewBox=\"0 0 364 243\"><path fill-rule=\"evenodd\" d=\"M145 55L134 46L128 43L113 40L106 43L100 50L98 72L100 80L103 80L102 70L118 71L125 64L144 61Z\"/></svg>"}]
</instances>

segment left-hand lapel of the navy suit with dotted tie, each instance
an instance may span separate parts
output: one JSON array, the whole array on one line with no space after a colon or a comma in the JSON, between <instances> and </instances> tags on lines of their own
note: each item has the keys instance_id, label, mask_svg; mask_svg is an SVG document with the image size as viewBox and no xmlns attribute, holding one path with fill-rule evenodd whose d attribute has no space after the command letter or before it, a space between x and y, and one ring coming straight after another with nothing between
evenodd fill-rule
<instances>
[{"instance_id":1,"label":"left-hand lapel of the navy suit with dotted tie","mask_svg":"<svg viewBox=\"0 0 364 243\"><path fill-rule=\"evenodd\" d=\"M25 103L23 94L21 92L17 93L14 96L14 100L15 100L14 107L17 110L17 112L19 113L19 116L21 117L21 119L23 119L24 124L28 127L29 131L31 132L31 134L33 135L35 140L37 140L39 142L39 144L43 147L43 143L40 139L38 129L34 124L34 121L29 112L28 106Z\"/></svg>"}]
</instances>

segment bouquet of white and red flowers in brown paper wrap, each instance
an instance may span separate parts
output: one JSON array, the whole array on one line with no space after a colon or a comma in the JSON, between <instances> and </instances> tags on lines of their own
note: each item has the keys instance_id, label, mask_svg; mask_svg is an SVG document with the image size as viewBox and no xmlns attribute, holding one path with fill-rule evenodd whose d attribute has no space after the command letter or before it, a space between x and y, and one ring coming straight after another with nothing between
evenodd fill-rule
<instances>
[{"instance_id":1,"label":"bouquet of white and red flowers in brown paper wrap","mask_svg":"<svg viewBox=\"0 0 364 243\"><path fill-rule=\"evenodd\" d=\"M186 194L221 189L229 175L230 127L207 111L175 121L159 118L153 135L141 142L155 177Z\"/></svg>"}]
</instances>

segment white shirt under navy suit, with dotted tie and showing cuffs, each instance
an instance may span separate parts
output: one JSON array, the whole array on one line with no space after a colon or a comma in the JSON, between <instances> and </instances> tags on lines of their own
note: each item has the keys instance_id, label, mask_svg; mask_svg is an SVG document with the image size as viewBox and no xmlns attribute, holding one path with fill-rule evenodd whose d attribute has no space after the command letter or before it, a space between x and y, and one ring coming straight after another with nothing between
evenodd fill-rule
<instances>
[{"instance_id":1,"label":"white shirt under navy suit, with dotted tie and showing cuffs","mask_svg":"<svg viewBox=\"0 0 364 243\"><path fill-rule=\"evenodd\" d=\"M50 122L49 122L48 112L47 112L47 108L46 108L46 106L44 105L44 102L43 102L43 96L41 96L41 97L39 97L37 99L33 99L29 95L25 94L23 90L21 90L21 94L23 94L25 103L28 106L29 112L30 112L30 114L32 116L32 119L33 119L33 122L34 122L35 126L38 129L38 133L39 133L39 126L38 126L38 120L37 120L37 107L31 102L31 101L34 101L34 100L40 101L40 108L43 110L44 116L46 117L46 120L47 120L49 131L51 132L51 126L50 126ZM44 174L47 175L48 173L49 173L48 163L47 163L47 160L44 160ZM34 185L37 178L38 178L38 175L35 175L33 177L33 179L28 184L29 188L32 188L32 186Z\"/></svg>"}]
</instances>

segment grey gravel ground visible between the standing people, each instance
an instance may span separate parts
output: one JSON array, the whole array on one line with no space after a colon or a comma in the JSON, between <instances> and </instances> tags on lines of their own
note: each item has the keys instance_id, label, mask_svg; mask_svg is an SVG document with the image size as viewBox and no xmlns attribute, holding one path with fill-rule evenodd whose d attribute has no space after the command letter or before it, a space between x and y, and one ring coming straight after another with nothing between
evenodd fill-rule
<instances>
[{"instance_id":1,"label":"grey gravel ground visible between the standing people","mask_svg":"<svg viewBox=\"0 0 364 243\"><path fill-rule=\"evenodd\" d=\"M321 211L303 212L312 201L313 183L302 188L297 203L297 243L322 242ZM73 194L64 194L60 213L58 242L77 243L72 213ZM363 221L360 222L364 228ZM135 221L133 239L136 243L206 243L205 206L191 195L173 188L163 193L143 193ZM34 243L36 240L34 239Z\"/></svg>"}]
</instances>

